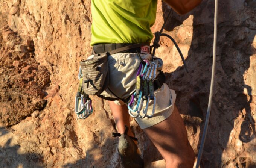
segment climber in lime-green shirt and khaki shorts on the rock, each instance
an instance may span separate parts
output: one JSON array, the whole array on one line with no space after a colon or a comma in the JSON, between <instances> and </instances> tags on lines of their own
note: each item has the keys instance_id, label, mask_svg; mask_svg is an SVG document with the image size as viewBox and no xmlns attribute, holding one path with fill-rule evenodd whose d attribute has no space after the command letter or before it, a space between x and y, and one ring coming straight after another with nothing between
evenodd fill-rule
<instances>
[{"instance_id":1,"label":"climber in lime-green shirt and khaki shorts on the rock","mask_svg":"<svg viewBox=\"0 0 256 168\"><path fill-rule=\"evenodd\" d=\"M183 15L198 6L201 0L165 2L175 12ZM136 73L141 62L137 51L143 60L156 60L157 74L161 74L163 62L160 58L152 57L149 48L153 38L150 27L155 23L156 10L157 0L91 0L91 45L95 53L105 53L131 44L148 43L108 56L110 91L104 91L101 94L103 97L125 100L133 94ZM161 82L154 89L157 100L154 116L137 117L135 120L162 155L166 168L192 168L195 153L187 139L183 120L174 105L175 91ZM118 150L125 168L140 168L143 167L143 160L132 140L134 134L130 129L128 107L122 100L108 101L117 130L121 134ZM152 110L152 106L153 103L148 110Z\"/></svg>"}]
</instances>

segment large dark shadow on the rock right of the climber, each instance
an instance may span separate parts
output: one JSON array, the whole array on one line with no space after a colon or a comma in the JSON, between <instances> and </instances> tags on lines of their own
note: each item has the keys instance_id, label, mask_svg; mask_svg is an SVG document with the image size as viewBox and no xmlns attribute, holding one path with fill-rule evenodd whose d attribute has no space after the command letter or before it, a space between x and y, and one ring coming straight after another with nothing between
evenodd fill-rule
<instances>
[{"instance_id":1,"label":"large dark shadow on the rock right of the climber","mask_svg":"<svg viewBox=\"0 0 256 168\"><path fill-rule=\"evenodd\" d=\"M236 162L237 167L253 167L255 163L251 158L242 157L241 151L230 142L230 136L239 137L243 143L248 143L256 136L255 121L252 117L250 103L253 102L252 87L245 84L244 75L250 67L250 57L255 54L251 47L256 35L255 26L250 23L253 16L248 17L240 25L235 25L235 10L231 2L219 2L218 40L216 55L215 88L213 94L212 112L209 122L206 143L201 160L202 168L224 168ZM162 3L163 18L166 20L169 9ZM256 9L256 3L241 12L241 18L247 17L247 12ZM207 10L207 11L206 11ZM245 11L247 10L247 11ZM214 1L203 1L200 6L189 14L180 16L172 12L171 18L166 23L165 30L172 31L180 26L189 15L193 15L193 36L186 63L189 73L184 66L178 67L171 73L165 73L166 83L177 93L176 105L181 114L200 117L201 132L204 128L212 71L213 48L213 18ZM240 14L240 13L239 13ZM167 33L168 33L167 32ZM180 58L177 58L180 59ZM247 94L245 94L245 90ZM255 101L255 100L254 100ZM235 119L241 122L235 125ZM236 128L238 134L231 133ZM239 135L239 136L238 136ZM199 149L198 144L198 149ZM235 153L233 156L226 151ZM243 144L241 146L243 148ZM225 154L224 154L225 151ZM231 157L232 156L232 157ZM243 160L243 161L242 161Z\"/></svg>"}]
</instances>

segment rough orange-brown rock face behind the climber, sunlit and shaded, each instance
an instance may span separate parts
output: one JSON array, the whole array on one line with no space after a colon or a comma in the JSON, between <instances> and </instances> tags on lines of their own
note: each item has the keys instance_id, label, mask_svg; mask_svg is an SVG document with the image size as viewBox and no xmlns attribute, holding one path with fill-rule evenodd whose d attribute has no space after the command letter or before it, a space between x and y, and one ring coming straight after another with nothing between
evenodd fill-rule
<instances>
[{"instance_id":1,"label":"rough orange-brown rock face behind the climber, sunlit and shaded","mask_svg":"<svg viewBox=\"0 0 256 168\"><path fill-rule=\"evenodd\" d=\"M91 53L91 2L0 2L0 167L121 167L118 139L107 101L92 97L86 120L73 112L79 62ZM190 144L198 153L212 68L213 0L179 16L158 1L152 32L166 83L177 93ZM256 166L256 2L219 2L216 80L202 168ZM146 167L165 162L136 122ZM154 155L152 155L152 153Z\"/></svg>"}]
</instances>

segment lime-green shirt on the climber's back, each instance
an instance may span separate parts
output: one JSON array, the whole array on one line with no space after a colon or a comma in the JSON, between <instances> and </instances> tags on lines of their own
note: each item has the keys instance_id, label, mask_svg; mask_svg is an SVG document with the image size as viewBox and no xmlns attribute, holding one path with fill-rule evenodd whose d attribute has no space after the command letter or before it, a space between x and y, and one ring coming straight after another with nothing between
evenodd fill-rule
<instances>
[{"instance_id":1,"label":"lime-green shirt on the climber's back","mask_svg":"<svg viewBox=\"0 0 256 168\"><path fill-rule=\"evenodd\" d=\"M151 42L156 9L157 0L91 0L91 45Z\"/></svg>"}]
</instances>

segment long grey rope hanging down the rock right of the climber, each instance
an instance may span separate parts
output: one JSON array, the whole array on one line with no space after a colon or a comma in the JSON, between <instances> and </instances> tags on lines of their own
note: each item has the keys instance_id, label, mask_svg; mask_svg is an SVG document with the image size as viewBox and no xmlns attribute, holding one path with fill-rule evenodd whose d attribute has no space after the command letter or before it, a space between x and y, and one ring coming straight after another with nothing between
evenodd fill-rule
<instances>
[{"instance_id":1,"label":"long grey rope hanging down the rock right of the climber","mask_svg":"<svg viewBox=\"0 0 256 168\"><path fill-rule=\"evenodd\" d=\"M211 108L212 108L212 96L213 96L213 85L214 85L214 78L215 78L215 65L216 65L216 46L217 46L217 19L218 19L218 0L215 0L215 9L214 9L214 34L213 34L213 57L212 57L212 77L211 77L211 85L210 85L210 94L209 94L209 101L206 113L206 120L204 123L204 130L202 135L202 140L200 144L200 148L198 151L197 157L197 165L196 168L199 168L201 157L204 150L204 142L206 139L208 124L210 120Z\"/></svg>"}]
</instances>

